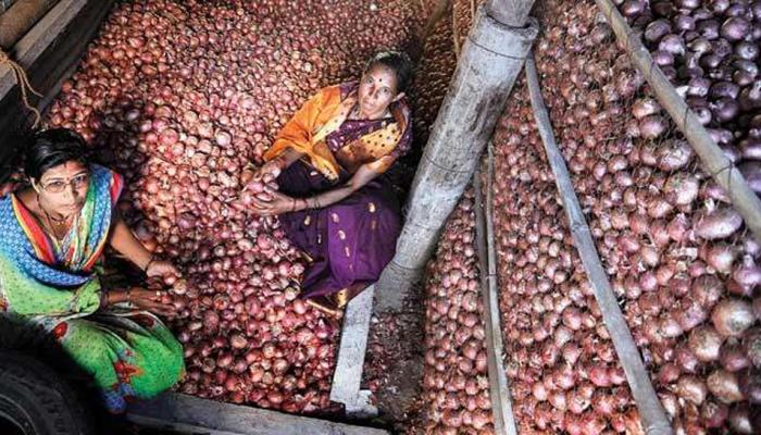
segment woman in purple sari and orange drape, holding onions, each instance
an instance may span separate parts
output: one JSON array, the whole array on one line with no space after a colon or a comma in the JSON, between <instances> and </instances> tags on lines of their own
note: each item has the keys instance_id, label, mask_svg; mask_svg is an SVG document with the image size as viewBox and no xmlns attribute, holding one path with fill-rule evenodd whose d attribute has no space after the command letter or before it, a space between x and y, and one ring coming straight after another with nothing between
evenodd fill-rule
<instances>
[{"instance_id":1,"label":"woman in purple sari and orange drape, holding onions","mask_svg":"<svg viewBox=\"0 0 761 435\"><path fill-rule=\"evenodd\" d=\"M260 179L276 177L279 191L264 186L265 195L251 199L253 212L279 215L289 239L311 257L301 297L328 313L376 282L396 251L400 208L383 173L410 149L411 75L407 55L387 51L367 62L359 83L320 90L246 187L257 191Z\"/></svg>"}]
</instances>

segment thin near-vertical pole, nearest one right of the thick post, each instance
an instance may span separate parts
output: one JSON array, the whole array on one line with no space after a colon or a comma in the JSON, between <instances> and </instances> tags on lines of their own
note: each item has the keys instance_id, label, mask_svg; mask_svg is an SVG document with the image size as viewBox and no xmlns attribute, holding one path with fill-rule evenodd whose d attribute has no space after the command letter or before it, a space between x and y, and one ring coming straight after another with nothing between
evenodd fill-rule
<instances>
[{"instance_id":1,"label":"thin near-vertical pole, nearest one right of the thick post","mask_svg":"<svg viewBox=\"0 0 761 435\"><path fill-rule=\"evenodd\" d=\"M481 173L473 181L475 189L476 246L481 264L481 289L484 300L484 325L486 331L486 359L489 372L489 397L495 433L516 435L517 427L512 410L508 376L504 371L504 346L499 314L499 287L497 285L497 253L494 245L492 179L494 156L488 145L486 201L482 192Z\"/></svg>"}]
</instances>

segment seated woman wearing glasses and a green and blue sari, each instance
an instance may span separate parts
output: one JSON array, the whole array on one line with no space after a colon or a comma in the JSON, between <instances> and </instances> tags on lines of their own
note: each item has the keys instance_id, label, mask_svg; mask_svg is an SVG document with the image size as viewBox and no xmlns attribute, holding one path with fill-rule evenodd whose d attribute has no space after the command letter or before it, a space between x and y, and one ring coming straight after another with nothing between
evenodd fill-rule
<instances>
[{"instance_id":1,"label":"seated woman wearing glasses and a green and blue sari","mask_svg":"<svg viewBox=\"0 0 761 435\"><path fill-rule=\"evenodd\" d=\"M184 373L183 349L155 314L173 307L161 291L104 290L98 278L107 244L148 276L177 275L116 213L122 177L89 163L84 139L63 128L34 137L25 172L30 186L0 198L2 318L49 331L111 412L170 388Z\"/></svg>"}]
</instances>

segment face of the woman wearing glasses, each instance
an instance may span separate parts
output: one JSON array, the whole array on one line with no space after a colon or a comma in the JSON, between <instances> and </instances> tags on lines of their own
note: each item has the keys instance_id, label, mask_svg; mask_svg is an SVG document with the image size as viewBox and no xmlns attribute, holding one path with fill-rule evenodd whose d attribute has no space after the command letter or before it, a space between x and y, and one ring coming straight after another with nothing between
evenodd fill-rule
<instances>
[{"instance_id":1,"label":"face of the woman wearing glasses","mask_svg":"<svg viewBox=\"0 0 761 435\"><path fill-rule=\"evenodd\" d=\"M47 210L70 215L85 204L89 181L87 166L68 161L46 171L34 186Z\"/></svg>"}]
</instances>

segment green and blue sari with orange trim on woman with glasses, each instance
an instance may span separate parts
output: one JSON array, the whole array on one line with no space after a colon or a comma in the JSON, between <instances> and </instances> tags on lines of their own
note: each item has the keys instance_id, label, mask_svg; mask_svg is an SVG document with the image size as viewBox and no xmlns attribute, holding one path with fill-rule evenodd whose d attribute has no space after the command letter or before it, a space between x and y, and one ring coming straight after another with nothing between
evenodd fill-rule
<instances>
[{"instance_id":1,"label":"green and blue sari with orange trim on woman with glasses","mask_svg":"<svg viewBox=\"0 0 761 435\"><path fill-rule=\"evenodd\" d=\"M14 194L0 199L0 315L43 326L123 412L183 376L183 348L153 314L101 310L96 273L123 187L121 176L92 165L82 212L62 241L42 231Z\"/></svg>"}]
</instances>

